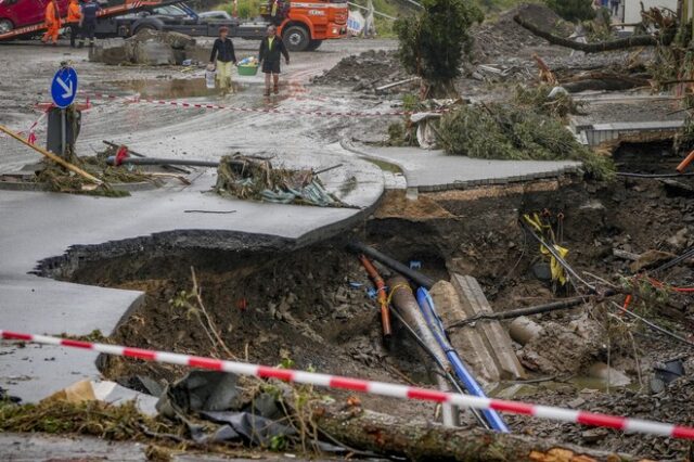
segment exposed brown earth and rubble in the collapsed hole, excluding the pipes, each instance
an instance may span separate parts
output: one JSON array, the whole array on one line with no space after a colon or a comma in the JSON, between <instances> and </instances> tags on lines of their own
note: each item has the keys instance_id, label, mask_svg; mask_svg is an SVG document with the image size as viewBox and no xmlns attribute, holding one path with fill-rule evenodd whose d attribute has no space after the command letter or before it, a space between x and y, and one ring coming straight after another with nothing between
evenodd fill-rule
<instances>
[{"instance_id":1,"label":"exposed brown earth and rubble in the collapsed hole, excluding the pipes","mask_svg":"<svg viewBox=\"0 0 694 462\"><path fill-rule=\"evenodd\" d=\"M656 166L652 162L653 153L661 151L667 152L663 145L625 146L617 151L616 161L628 162L622 169L639 169L647 159L652 170L669 171L674 156L661 154ZM613 255L614 248L637 255L652 249L679 254L694 244L694 208L689 194L658 180L621 179L600 184L576 178L422 194L416 202L391 192L363 228L309 248L273 255L198 251L149 257L145 246L137 256L86 262L69 279L147 293L144 306L118 329L114 336L117 343L219 354L195 313L174 303L180 291L190 291L190 268L194 267L204 305L234 356L266 364L288 359L298 369L432 386L435 371L429 369L430 362L401 326L396 323L395 338L383 342L376 304L365 292L372 284L356 255L345 248L350 239L375 245L404 262L421 261L422 271L435 279L447 279L449 271L474 275L493 309L503 311L575 295L573 291L553 293L552 284L538 277L534 268L545 259L539 246L520 231L520 214L548 210L550 220L564 214L557 240L569 249L568 261L593 283L594 274L618 284L620 277L633 271L631 261ZM684 265L659 277L685 286L694 283L693 275L692 268ZM614 299L621 304L624 296ZM663 306L634 306L658 325L689 337L690 305L691 296L671 295ZM694 377L694 361L689 359L694 350L607 307L600 298L591 298L583 307L534 317L547 334L526 346L514 344L530 374L529 383L502 384L492 393L531 402L694 423L686 386ZM650 381L656 361L672 358L684 358L685 376L653 394ZM626 374L630 384L606 387L594 380L589 370L596 362L609 363ZM105 361L103 372L125 384L137 374L162 381L182 374L175 368L119 359ZM504 395L509 393L513 394ZM430 405L373 397L363 397L362 402L400 416L435 419ZM466 422L473 424L472 420ZM654 459L680 459L687 448L681 440L529 418L510 416L509 422L514 432Z\"/></svg>"}]
</instances>

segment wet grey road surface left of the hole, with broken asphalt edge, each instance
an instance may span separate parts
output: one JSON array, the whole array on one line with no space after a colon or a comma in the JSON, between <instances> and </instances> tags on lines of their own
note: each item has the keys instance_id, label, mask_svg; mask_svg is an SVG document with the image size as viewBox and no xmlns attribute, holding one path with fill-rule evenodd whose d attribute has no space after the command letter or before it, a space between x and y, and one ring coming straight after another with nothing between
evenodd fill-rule
<instances>
[{"instance_id":1,"label":"wet grey road surface left of the hole, with broken asphalt edge","mask_svg":"<svg viewBox=\"0 0 694 462\"><path fill-rule=\"evenodd\" d=\"M375 42L369 41L369 44ZM386 46L391 46L386 42ZM311 110L352 107L339 92L312 92L309 78L351 52L325 50L296 54L285 67L279 97L264 99L260 76L237 78L234 94L207 94L202 76L172 67L114 67L85 61L86 52L37 44L2 46L9 57L8 85L0 99L8 111L0 124L23 129L39 113L35 102L48 99L48 82L57 62L73 59L80 75L81 101L97 92L125 100L90 98L83 112L77 151L93 154L102 140L127 143L153 157L218 159L242 152L271 158L273 165L312 167L342 164L321 175L326 188L352 208L319 208L234 201L209 193L214 172L197 170L191 187L171 184L130 197L0 191L0 329L47 334L110 334L141 293L83 286L39 278L30 272L39 260L63 255L74 245L104 243L140 245L138 240L170 246L214 247L304 245L333 235L363 219L383 193L383 175L375 165L345 155L337 140L349 120L293 114L191 110L131 102L137 98L185 99L245 108ZM317 59L318 57L318 59ZM13 67L14 66L14 67ZM12 70L12 72L10 72ZM181 77L179 77L179 74ZM190 80L192 82L188 82ZM183 82L182 82L183 81ZM124 84L125 82L125 84ZM147 93L150 92L150 93ZM144 94L142 94L144 93ZM203 94L204 93L204 94ZM80 100L78 99L78 100ZM130 101L126 101L130 100ZM373 104L373 103L371 103ZM365 108L369 108L365 106ZM325 136L325 133L332 133ZM41 127L38 139L44 138ZM0 138L0 170L12 171L40 156L8 138ZM354 183L357 188L346 188ZM185 210L235 210L232 215L189 214ZM242 233L255 240L241 238ZM250 235L247 234L247 235ZM248 243L248 241L252 241ZM107 245L107 244L106 244ZM29 315L30 313L30 315ZM81 378L99 375L94 355L51 347L0 348L0 386L26 400L38 400Z\"/></svg>"}]
</instances>

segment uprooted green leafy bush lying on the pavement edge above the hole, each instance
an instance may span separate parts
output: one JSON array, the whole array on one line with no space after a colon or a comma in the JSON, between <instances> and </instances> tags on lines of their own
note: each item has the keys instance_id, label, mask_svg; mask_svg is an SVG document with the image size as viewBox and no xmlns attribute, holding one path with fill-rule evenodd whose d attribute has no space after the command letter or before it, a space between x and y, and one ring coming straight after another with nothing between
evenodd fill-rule
<instances>
[{"instance_id":1,"label":"uprooted green leafy bush lying on the pavement edge above the hole","mask_svg":"<svg viewBox=\"0 0 694 462\"><path fill-rule=\"evenodd\" d=\"M527 108L464 105L446 114L439 127L451 155L478 158L580 161L596 179L609 180L612 159L580 144L561 121Z\"/></svg>"}]
</instances>

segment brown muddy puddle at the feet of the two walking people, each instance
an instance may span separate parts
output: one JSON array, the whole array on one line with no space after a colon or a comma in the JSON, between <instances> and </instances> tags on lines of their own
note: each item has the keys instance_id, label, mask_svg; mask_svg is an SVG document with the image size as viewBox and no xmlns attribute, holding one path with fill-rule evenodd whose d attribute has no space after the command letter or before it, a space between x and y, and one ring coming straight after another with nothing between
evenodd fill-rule
<instances>
[{"instance_id":1,"label":"brown muddy puddle at the feet of the two walking people","mask_svg":"<svg viewBox=\"0 0 694 462\"><path fill-rule=\"evenodd\" d=\"M205 85L205 79L202 77L190 79L134 79L111 84L123 90L136 91L142 98L178 99L224 94L220 89L208 89ZM239 92L243 91L244 87L236 81L232 81L231 88L233 92ZM230 93L231 90L227 90L227 92Z\"/></svg>"}]
</instances>

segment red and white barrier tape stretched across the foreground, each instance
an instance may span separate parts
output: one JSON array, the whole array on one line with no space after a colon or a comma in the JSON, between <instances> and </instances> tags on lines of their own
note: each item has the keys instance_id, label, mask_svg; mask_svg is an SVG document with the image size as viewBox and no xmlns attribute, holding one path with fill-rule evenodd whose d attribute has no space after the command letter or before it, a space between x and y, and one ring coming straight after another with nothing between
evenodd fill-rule
<instances>
[{"instance_id":1,"label":"red and white barrier tape stretched across the foreground","mask_svg":"<svg viewBox=\"0 0 694 462\"><path fill-rule=\"evenodd\" d=\"M90 342L73 341L68 338L49 337L46 335L33 335L18 332L0 331L0 338L33 342L46 345L57 345L70 348L82 348L102 352L105 355L123 356L126 358L141 359L144 361L164 362L168 364L209 369L213 371L232 372L239 375L253 375L261 378L279 378L287 382L296 382L300 384L316 385L327 388L362 392L371 395L389 396L402 399L414 399L420 401L446 402L463 408L475 408L479 410L492 409L494 411L532 415L540 419L614 428L621 432L643 433L647 435L668 436L681 439L694 439L694 427L664 424L659 422L628 419L607 414L597 414L586 411L576 411L571 409L554 408L550 406L536 406L519 401L479 398L476 396L437 392L433 389L389 384L384 382L372 382L360 378L343 377L338 375L319 374L314 372L293 371L288 369L279 369L235 361L223 361L220 359L179 355L166 351L155 351L142 348L128 348L116 345L95 344Z\"/></svg>"}]
</instances>

